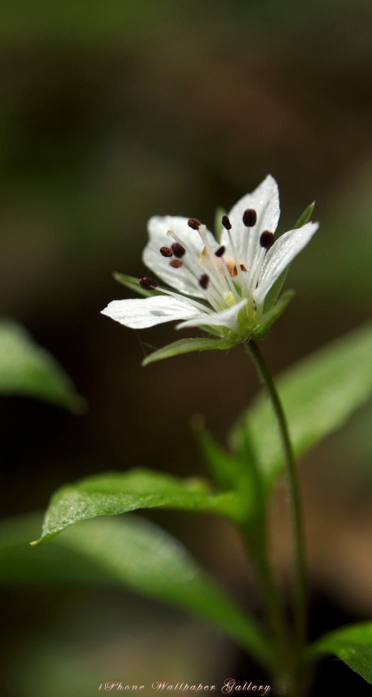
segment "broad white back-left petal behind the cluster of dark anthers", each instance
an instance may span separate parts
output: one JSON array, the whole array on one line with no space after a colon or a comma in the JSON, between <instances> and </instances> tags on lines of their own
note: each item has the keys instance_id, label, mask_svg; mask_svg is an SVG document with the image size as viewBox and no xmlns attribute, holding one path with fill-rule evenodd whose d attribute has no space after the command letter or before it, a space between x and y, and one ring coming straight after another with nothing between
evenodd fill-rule
<instances>
[{"instance_id":1,"label":"broad white back-left petal behind the cluster of dark anthers","mask_svg":"<svg viewBox=\"0 0 372 697\"><path fill-rule=\"evenodd\" d=\"M188 218L177 217L171 215L154 215L148 221L148 243L142 254L142 261L153 273L169 286L173 286L181 293L186 293L189 296L203 298L203 291L198 284L198 279L202 275L203 270L200 268L198 260L203 250L203 242L197 230L193 230L187 225ZM192 271L196 276L196 282L193 283L185 268L173 268L169 266L171 259L160 254L161 247L171 247L173 239L166 233L168 230L173 230L178 237L189 247L194 255L186 252L182 257L185 266ZM208 232L208 231L207 231ZM213 245L216 245L215 238L212 233L208 232ZM173 257L174 258L174 257Z\"/></svg>"}]
</instances>

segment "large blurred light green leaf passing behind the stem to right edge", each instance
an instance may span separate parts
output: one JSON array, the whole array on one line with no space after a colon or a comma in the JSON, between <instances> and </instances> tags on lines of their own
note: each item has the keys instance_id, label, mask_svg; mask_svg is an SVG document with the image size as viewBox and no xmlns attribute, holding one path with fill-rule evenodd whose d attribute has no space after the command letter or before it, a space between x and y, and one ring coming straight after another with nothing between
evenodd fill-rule
<instances>
[{"instance_id":1,"label":"large blurred light green leaf passing behind the stem to right edge","mask_svg":"<svg viewBox=\"0 0 372 697\"><path fill-rule=\"evenodd\" d=\"M368 323L279 376L277 387L296 457L343 426L371 397L371 355L372 323ZM254 450L270 491L284 462L277 423L265 395L254 401L231 434L231 443L239 452L246 423L250 424Z\"/></svg>"}]
</instances>

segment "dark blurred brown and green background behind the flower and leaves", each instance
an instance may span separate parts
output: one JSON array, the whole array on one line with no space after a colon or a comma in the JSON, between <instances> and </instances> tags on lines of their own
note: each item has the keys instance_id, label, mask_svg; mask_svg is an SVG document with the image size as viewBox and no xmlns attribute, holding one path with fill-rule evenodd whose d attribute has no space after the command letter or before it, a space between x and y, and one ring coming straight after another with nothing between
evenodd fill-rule
<instances>
[{"instance_id":1,"label":"dark blurred brown and green background behind the flower and leaves","mask_svg":"<svg viewBox=\"0 0 372 697\"><path fill-rule=\"evenodd\" d=\"M144 274L150 215L212 228L217 204L228 210L268 172L280 232L316 199L320 231L287 281L297 296L263 346L274 372L369 316L372 6L13 0L1 16L1 314L26 325L90 404L76 417L1 399L2 513L12 516L93 473L203 473L189 418L203 414L224 442L258 389L240 347L142 369L146 344L180 335L172 325L137 334L100 315L130 295L113 270ZM371 415L364 408L301 464L314 634L371 615ZM284 580L285 509L279 491L273 550ZM231 526L150 517L247 600L251 572ZM10 697L88 697L111 673L140 680L145 666L192 675L203 664L210 680L217 666L242 666L216 632L130 595L15 591L8 620ZM330 694L330 665L313 694ZM332 694L355 694L342 680Z\"/></svg>"}]
</instances>

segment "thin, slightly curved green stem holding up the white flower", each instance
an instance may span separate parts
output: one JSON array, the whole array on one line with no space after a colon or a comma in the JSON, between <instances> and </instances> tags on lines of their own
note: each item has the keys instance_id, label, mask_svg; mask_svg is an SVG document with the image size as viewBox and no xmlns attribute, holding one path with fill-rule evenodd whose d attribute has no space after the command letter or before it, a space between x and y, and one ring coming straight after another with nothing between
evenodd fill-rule
<instances>
[{"instance_id":1,"label":"thin, slightly curved green stem holding up the white flower","mask_svg":"<svg viewBox=\"0 0 372 697\"><path fill-rule=\"evenodd\" d=\"M275 387L270 370L266 365L266 362L263 358L260 349L254 341L247 342L247 349L251 355L251 358L254 361L254 364L256 365L258 375L260 376L261 381L263 381L265 388L268 390L268 394L272 401L272 408L274 410L275 416L277 417L281 441L284 450L284 456L286 459L295 544L295 632L297 646L298 648L300 648L304 645L304 642L306 641L307 637L307 604L304 526L302 521L302 507L300 489L298 486L297 472L295 467L295 457L293 454L292 443L290 442L286 415L284 413L283 407L281 406L281 401L279 399L277 388Z\"/></svg>"}]
</instances>

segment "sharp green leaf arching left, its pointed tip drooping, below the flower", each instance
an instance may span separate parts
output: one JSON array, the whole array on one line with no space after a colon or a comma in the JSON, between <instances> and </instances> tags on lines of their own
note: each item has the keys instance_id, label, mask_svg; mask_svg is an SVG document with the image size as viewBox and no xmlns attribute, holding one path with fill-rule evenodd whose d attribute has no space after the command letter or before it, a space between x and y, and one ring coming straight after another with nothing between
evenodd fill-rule
<instances>
[{"instance_id":1,"label":"sharp green leaf arching left, its pointed tip drooping, below the flower","mask_svg":"<svg viewBox=\"0 0 372 697\"><path fill-rule=\"evenodd\" d=\"M213 494L204 480L134 469L88 477L56 491L45 513L42 537L31 544L37 546L87 518L156 507L211 512L231 519L241 515L233 492Z\"/></svg>"}]
</instances>

